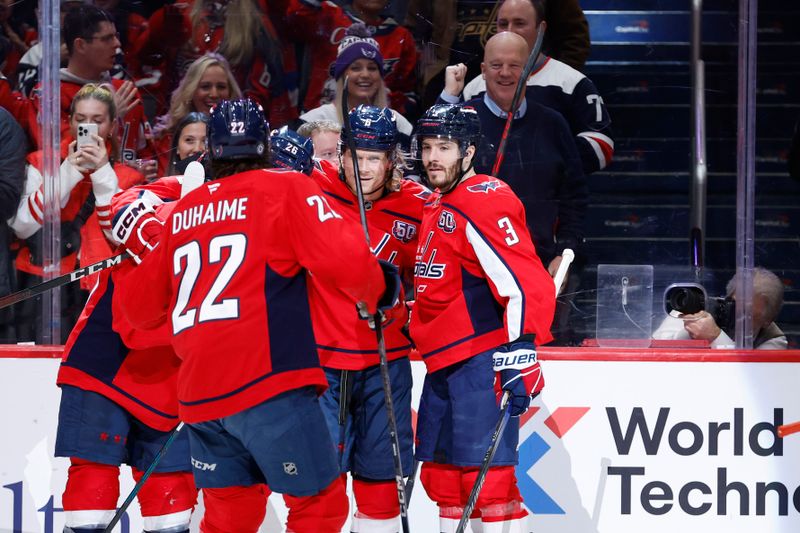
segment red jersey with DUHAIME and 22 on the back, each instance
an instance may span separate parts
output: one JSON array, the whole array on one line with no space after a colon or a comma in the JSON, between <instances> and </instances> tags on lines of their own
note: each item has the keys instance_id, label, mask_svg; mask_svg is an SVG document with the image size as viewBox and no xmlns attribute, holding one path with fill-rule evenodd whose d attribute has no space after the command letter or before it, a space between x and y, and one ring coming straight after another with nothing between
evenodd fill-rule
<instances>
[{"instance_id":1,"label":"red jersey with DUHAIME and 22 on the back","mask_svg":"<svg viewBox=\"0 0 800 533\"><path fill-rule=\"evenodd\" d=\"M374 309L384 290L358 227L307 176L243 172L177 202L158 247L118 290L135 327L169 321L182 359L182 420L229 416L302 386L324 389L306 271L347 291L353 306Z\"/></svg>"}]
</instances>

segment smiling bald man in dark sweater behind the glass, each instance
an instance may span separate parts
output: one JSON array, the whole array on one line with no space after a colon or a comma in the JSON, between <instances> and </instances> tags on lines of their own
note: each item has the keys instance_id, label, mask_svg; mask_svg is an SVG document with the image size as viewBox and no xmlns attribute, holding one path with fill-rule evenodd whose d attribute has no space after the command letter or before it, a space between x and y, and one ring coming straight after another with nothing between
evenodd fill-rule
<instances>
[{"instance_id":1,"label":"smiling bald man in dark sweater behind the glass","mask_svg":"<svg viewBox=\"0 0 800 533\"><path fill-rule=\"evenodd\" d=\"M475 160L479 174L491 174L500 136L511 111L511 100L528 58L525 39L511 32L498 33L486 43L481 65L486 92L468 100L481 120L481 145ZM464 75L463 65L448 67L448 87ZM447 103L457 102L457 90L442 93ZM552 109L527 96L520 99L508 134L503 164L497 177L505 181L525 206L528 228L551 276L558 271L561 253L572 248L579 254L583 242L588 186L569 126Z\"/></svg>"}]
</instances>

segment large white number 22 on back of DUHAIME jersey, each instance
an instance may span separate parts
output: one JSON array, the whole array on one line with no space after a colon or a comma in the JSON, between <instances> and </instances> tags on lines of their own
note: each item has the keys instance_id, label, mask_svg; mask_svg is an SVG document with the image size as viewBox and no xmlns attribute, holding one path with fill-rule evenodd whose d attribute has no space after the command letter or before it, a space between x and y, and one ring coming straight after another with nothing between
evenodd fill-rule
<instances>
[{"instance_id":1,"label":"large white number 22 on back of DUHAIME jersey","mask_svg":"<svg viewBox=\"0 0 800 533\"><path fill-rule=\"evenodd\" d=\"M204 265L213 265L222 261L222 251L229 250L228 258L220 268L217 277L208 289L199 313L196 308L188 307L189 300L197 283L197 278ZM200 322L212 320L228 320L239 317L239 299L220 299L222 291L230 283L236 271L244 261L247 250L247 237L241 233L217 235L208 243L208 257L203 258L200 243L192 241L177 248L172 256L172 272L181 277L178 285L178 298L172 310L172 334L177 335L184 329Z\"/></svg>"}]
</instances>

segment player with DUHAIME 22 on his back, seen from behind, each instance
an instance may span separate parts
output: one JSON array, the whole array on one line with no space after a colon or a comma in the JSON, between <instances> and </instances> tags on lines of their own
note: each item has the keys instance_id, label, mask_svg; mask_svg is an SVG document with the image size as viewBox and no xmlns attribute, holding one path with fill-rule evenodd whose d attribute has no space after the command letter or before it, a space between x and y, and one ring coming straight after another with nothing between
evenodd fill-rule
<instances>
[{"instance_id":1,"label":"player with DUHAIME 22 on his back, seen from behind","mask_svg":"<svg viewBox=\"0 0 800 533\"><path fill-rule=\"evenodd\" d=\"M267 142L259 106L217 105L209 127L216 180L178 203L119 290L132 324L167 321L182 360L178 401L203 488L201 530L256 531L268 483L284 494L288 531L338 532L347 498L317 398L326 382L307 276L371 311L394 301L397 280L384 281L358 227L312 180L263 170Z\"/></svg>"}]
</instances>

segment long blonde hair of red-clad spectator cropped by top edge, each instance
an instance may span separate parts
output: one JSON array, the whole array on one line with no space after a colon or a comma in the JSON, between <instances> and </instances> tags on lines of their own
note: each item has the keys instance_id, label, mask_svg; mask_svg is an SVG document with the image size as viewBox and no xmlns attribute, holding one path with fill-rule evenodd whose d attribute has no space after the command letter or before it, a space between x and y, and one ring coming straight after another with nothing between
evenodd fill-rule
<instances>
[{"instance_id":1,"label":"long blonde hair of red-clad spectator cropped by top edge","mask_svg":"<svg viewBox=\"0 0 800 533\"><path fill-rule=\"evenodd\" d=\"M191 19L194 28L200 28L206 11L206 1L196 0ZM260 31L261 9L255 0L231 0L225 12L225 27L219 52L232 65L245 65L253 57Z\"/></svg>"}]
</instances>

